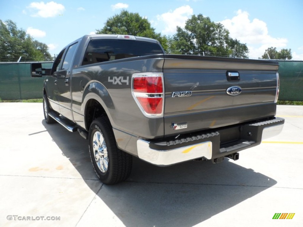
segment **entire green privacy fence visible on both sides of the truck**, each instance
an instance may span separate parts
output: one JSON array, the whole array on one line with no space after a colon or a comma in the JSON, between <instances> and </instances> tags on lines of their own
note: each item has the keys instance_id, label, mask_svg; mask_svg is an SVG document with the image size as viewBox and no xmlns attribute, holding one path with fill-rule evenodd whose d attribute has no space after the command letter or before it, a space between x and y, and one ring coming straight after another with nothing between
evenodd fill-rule
<instances>
[{"instance_id":1,"label":"entire green privacy fence visible on both sides of the truck","mask_svg":"<svg viewBox=\"0 0 303 227\"><path fill-rule=\"evenodd\" d=\"M52 62L43 62L51 68ZM303 101L303 61L279 60L279 100ZM44 77L31 77L30 63L0 63L0 98L3 100L42 98Z\"/></svg>"}]
</instances>

